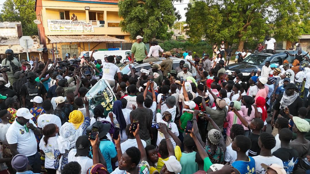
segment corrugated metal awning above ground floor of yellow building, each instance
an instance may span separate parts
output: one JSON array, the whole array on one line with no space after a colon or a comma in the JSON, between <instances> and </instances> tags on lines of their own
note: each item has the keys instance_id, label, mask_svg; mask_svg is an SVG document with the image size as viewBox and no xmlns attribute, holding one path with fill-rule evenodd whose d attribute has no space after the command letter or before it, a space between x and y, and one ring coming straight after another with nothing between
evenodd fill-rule
<instances>
[{"instance_id":1,"label":"corrugated metal awning above ground floor of yellow building","mask_svg":"<svg viewBox=\"0 0 310 174\"><path fill-rule=\"evenodd\" d=\"M87 36L87 35L81 35L81 36L47 36L48 39L50 39L51 43L63 43L63 42L124 42L123 39L117 39L115 37L111 36Z\"/></svg>"}]
</instances>

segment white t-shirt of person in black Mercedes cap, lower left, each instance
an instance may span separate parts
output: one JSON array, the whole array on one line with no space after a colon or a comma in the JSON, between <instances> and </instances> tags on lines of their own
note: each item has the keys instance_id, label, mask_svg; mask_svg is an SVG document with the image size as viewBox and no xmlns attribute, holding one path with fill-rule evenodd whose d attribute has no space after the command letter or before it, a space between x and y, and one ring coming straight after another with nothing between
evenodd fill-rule
<instances>
[{"instance_id":1,"label":"white t-shirt of person in black Mercedes cap, lower left","mask_svg":"<svg viewBox=\"0 0 310 174\"><path fill-rule=\"evenodd\" d=\"M68 154L68 163L72 161L76 161L81 165L81 173L87 173L89 167L93 165L93 160L88 158L87 156L75 156L77 153L76 149L70 150Z\"/></svg>"}]
</instances>

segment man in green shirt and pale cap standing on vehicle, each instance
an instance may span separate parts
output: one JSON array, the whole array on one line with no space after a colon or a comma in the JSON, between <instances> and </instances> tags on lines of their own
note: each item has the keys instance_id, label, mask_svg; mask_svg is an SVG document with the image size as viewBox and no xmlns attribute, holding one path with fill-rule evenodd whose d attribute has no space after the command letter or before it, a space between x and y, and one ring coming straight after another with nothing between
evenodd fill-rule
<instances>
[{"instance_id":1,"label":"man in green shirt and pale cap standing on vehicle","mask_svg":"<svg viewBox=\"0 0 310 174\"><path fill-rule=\"evenodd\" d=\"M143 59L148 55L148 52L146 51L145 44L142 42L143 37L139 35L136 39L137 41L131 46L132 60L136 60L137 63L143 63Z\"/></svg>"}]
</instances>

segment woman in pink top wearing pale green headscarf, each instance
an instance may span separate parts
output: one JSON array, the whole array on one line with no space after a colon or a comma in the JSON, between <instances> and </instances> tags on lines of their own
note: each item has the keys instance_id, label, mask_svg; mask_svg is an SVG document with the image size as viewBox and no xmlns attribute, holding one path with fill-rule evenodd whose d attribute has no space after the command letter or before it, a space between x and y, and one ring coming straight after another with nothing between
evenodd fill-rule
<instances>
[{"instance_id":1,"label":"woman in pink top wearing pale green headscarf","mask_svg":"<svg viewBox=\"0 0 310 174\"><path fill-rule=\"evenodd\" d=\"M238 111L240 115L242 115L241 111L241 103L237 100L233 101L234 105L233 107ZM230 138L230 129L232 128L233 124L241 124L241 121L237 117L237 115L229 111L226 116L226 121L228 122L228 127L226 129L226 146L229 146L229 144L232 142L232 139Z\"/></svg>"}]
</instances>

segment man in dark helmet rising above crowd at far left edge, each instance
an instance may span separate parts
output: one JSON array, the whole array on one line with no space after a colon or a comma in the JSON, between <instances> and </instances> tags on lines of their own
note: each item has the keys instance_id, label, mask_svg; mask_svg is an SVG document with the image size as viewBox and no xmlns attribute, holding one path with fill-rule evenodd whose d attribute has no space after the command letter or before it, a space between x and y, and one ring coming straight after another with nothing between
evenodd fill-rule
<instances>
[{"instance_id":1,"label":"man in dark helmet rising above crowd at far left edge","mask_svg":"<svg viewBox=\"0 0 310 174\"><path fill-rule=\"evenodd\" d=\"M17 80L17 78L14 77L14 73L22 70L21 63L17 58L13 57L13 50L7 49L5 50L5 54L7 57L6 59L2 60L1 65L9 67L3 69L1 67L0 68L2 72L7 72L8 80L10 84L13 84Z\"/></svg>"}]
</instances>

